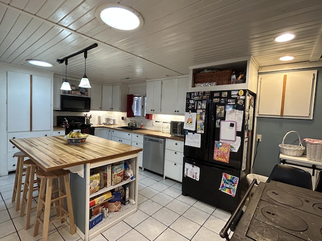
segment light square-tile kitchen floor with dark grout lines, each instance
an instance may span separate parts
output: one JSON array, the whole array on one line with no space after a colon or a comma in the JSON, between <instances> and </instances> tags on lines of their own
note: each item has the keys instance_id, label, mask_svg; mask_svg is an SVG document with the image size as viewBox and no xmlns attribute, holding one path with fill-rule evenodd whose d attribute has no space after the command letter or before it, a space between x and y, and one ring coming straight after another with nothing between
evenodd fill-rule
<instances>
[{"instance_id":1,"label":"light square-tile kitchen floor with dark grout lines","mask_svg":"<svg viewBox=\"0 0 322 241\"><path fill-rule=\"evenodd\" d=\"M16 211L11 201L15 174L0 177L0 240L32 241L35 211L31 226L24 229L25 217ZM163 179L148 171L139 170L138 210L92 240L95 241L166 241L166 240L224 240L219 231L230 212L181 194L181 183ZM54 222L49 226L49 241L82 240L71 235L67 223Z\"/></svg>"}]
</instances>

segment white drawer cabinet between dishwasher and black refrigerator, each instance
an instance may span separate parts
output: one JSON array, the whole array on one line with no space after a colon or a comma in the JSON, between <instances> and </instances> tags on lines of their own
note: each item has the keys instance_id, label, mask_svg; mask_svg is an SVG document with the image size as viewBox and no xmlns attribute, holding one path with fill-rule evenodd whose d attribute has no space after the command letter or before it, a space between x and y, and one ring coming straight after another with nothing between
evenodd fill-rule
<instances>
[{"instance_id":1,"label":"white drawer cabinet between dishwasher and black refrigerator","mask_svg":"<svg viewBox=\"0 0 322 241\"><path fill-rule=\"evenodd\" d=\"M166 140L164 178L182 182L183 146L182 141Z\"/></svg>"}]
</instances>

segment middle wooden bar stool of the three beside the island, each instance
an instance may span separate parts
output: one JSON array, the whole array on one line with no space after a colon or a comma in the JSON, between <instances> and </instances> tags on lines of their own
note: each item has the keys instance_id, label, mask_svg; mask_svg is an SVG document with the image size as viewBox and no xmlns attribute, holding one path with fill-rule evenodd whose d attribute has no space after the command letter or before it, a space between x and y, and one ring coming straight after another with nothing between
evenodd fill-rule
<instances>
[{"instance_id":1,"label":"middle wooden bar stool of the three beside the island","mask_svg":"<svg viewBox=\"0 0 322 241\"><path fill-rule=\"evenodd\" d=\"M24 185L24 193L22 196L21 201L21 211L20 216L25 216L25 209L27 205L27 212L26 212L26 221L25 221L25 229L30 227L30 214L32 210L35 210L37 207L31 207L31 203L33 198L37 196L33 196L33 192L39 190L39 182L35 179L35 171L38 169L38 166L31 161L30 159L24 161L24 166L27 167L26 171L26 178L25 178L25 185ZM34 187L34 183L37 183L37 186Z\"/></svg>"}]
</instances>

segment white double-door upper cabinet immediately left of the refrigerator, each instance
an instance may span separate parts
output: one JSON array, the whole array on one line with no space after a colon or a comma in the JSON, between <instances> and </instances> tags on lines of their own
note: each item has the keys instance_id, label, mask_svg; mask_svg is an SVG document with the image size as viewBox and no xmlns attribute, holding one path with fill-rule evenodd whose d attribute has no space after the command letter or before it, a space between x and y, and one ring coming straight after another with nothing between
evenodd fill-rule
<instances>
[{"instance_id":1,"label":"white double-door upper cabinet immediately left of the refrigerator","mask_svg":"<svg viewBox=\"0 0 322 241\"><path fill-rule=\"evenodd\" d=\"M163 79L161 113L185 114L189 77Z\"/></svg>"}]
</instances>

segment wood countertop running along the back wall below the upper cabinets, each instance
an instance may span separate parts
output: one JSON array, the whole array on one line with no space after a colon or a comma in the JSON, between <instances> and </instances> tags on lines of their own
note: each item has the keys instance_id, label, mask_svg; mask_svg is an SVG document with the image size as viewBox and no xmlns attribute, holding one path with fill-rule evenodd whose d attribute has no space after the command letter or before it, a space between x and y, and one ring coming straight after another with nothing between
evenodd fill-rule
<instances>
[{"instance_id":1,"label":"wood countertop running along the back wall below the upper cabinets","mask_svg":"<svg viewBox=\"0 0 322 241\"><path fill-rule=\"evenodd\" d=\"M169 133L155 132L154 130L151 130L151 129L138 129L138 130L134 130L134 131L118 129L118 127L124 127L122 125L92 125L92 127L95 127L95 128L98 128L98 127L110 128L110 129L114 129L114 130L122 131L122 132L130 132L130 133L146 135L146 136L152 136L152 137L167 138L167 139L172 139L172 140L175 140L175 141L182 141L182 142L184 141L183 137L171 136ZM62 127L54 127L53 130L54 131L60 131L60 130L64 130L64 128L62 128Z\"/></svg>"}]
</instances>

